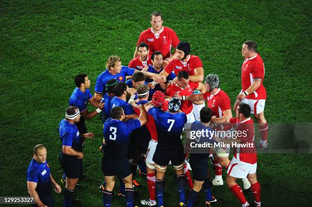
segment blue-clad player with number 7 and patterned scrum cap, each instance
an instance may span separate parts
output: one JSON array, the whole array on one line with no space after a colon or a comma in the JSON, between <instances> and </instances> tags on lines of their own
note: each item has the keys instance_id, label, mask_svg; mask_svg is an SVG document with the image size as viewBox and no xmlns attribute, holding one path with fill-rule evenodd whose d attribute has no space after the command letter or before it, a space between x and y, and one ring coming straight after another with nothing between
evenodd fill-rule
<instances>
[{"instance_id":1,"label":"blue-clad player with number 7 and patterned scrum cap","mask_svg":"<svg viewBox=\"0 0 312 207\"><path fill-rule=\"evenodd\" d=\"M158 132L158 145L153 156L157 170L155 186L158 206L164 206L164 177L170 161L177 176L179 206L185 206L186 180L183 172L184 147L181 134L187 122L187 116L179 111L181 102L176 97L170 99L167 112L152 105L145 104L144 106L148 109L148 114L154 117Z\"/></svg>"}]
</instances>

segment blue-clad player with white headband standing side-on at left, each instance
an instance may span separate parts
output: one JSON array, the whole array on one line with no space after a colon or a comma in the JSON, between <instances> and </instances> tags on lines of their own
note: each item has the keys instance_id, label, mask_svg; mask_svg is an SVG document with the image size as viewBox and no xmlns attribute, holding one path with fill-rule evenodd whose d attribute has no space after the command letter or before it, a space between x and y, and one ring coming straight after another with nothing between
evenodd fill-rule
<instances>
[{"instance_id":1,"label":"blue-clad player with white headband standing side-on at left","mask_svg":"<svg viewBox=\"0 0 312 207\"><path fill-rule=\"evenodd\" d=\"M83 175L82 138L93 138L93 133L79 133L75 123L80 120L80 111L77 107L68 107L65 119L60 122L59 136L62 142L60 162L66 175L66 186L64 192L64 207L72 206L74 188Z\"/></svg>"}]
</instances>

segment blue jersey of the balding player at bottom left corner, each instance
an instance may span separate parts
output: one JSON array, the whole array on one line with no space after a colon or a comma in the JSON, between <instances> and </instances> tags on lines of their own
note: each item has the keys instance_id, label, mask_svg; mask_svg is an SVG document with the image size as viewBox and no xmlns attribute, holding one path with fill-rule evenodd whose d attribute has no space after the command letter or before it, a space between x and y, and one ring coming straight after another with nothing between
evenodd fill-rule
<instances>
[{"instance_id":1,"label":"blue jersey of the balding player at bottom left corner","mask_svg":"<svg viewBox=\"0 0 312 207\"><path fill-rule=\"evenodd\" d=\"M32 159L27 170L27 181L37 183L36 191L39 195L51 194L52 183L48 162L38 163Z\"/></svg>"}]
</instances>

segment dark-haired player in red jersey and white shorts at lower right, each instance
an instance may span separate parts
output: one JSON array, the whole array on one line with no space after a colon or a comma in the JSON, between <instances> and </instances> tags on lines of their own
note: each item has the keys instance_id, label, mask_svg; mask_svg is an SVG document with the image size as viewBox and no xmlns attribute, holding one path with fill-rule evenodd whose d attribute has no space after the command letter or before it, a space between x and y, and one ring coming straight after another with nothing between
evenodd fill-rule
<instances>
[{"instance_id":1,"label":"dark-haired player in red jersey and white shorts at lower right","mask_svg":"<svg viewBox=\"0 0 312 207\"><path fill-rule=\"evenodd\" d=\"M249 206L242 189L236 183L237 178L247 176L255 198L253 204L260 207L261 187L256 175L257 152L254 145L254 125L253 120L250 118L250 111L249 105L240 104L236 110L236 118L227 121L237 126L235 139L220 139L217 137L215 140L228 144L241 144L234 148L234 156L227 169L226 184L232 194L240 200L243 207Z\"/></svg>"}]
</instances>

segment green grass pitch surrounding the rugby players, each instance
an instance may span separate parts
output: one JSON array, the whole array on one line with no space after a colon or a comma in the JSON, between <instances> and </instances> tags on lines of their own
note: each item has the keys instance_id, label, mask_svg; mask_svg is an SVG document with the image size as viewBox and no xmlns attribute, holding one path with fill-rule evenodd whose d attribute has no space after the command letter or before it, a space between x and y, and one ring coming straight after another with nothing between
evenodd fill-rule
<instances>
[{"instance_id":1,"label":"green grass pitch surrounding the rugby players","mask_svg":"<svg viewBox=\"0 0 312 207\"><path fill-rule=\"evenodd\" d=\"M32 147L38 143L46 145L51 172L59 182L57 127L75 88L73 76L87 73L93 91L109 56L119 55L127 65L140 32L150 27L153 11L162 12L164 25L190 42L205 75L219 74L232 104L241 89L242 43L255 40L266 68L267 121L311 122L309 1L0 1L0 196L28 195L26 173ZM87 178L76 195L83 206L101 206L99 118L88 121L87 127L95 138L85 148ZM311 158L310 154L259 154L264 206L310 205ZM139 201L147 198L147 188L145 177L138 180L143 185L137 190ZM167 206L177 204L175 186L171 169L166 177ZM240 205L226 186L212 190L223 198L220 206ZM61 206L63 195L54 198ZM247 198L252 200L251 195ZM202 192L199 200L196 206L202 206ZM114 196L113 206L124 203Z\"/></svg>"}]
</instances>

